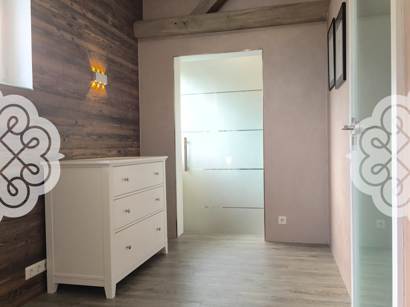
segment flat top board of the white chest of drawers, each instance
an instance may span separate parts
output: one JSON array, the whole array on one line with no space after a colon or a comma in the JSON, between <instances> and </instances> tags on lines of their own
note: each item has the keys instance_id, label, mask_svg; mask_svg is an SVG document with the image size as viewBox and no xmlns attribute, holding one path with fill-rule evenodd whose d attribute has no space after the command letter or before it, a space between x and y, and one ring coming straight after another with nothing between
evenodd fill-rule
<instances>
[{"instance_id":1,"label":"flat top board of the white chest of drawers","mask_svg":"<svg viewBox=\"0 0 410 307\"><path fill-rule=\"evenodd\" d=\"M112 165L119 166L125 164L150 163L156 161L165 161L168 156L158 157L112 157L112 158L96 158L96 159L81 159L81 160L63 160L59 161L60 165Z\"/></svg>"}]
</instances>

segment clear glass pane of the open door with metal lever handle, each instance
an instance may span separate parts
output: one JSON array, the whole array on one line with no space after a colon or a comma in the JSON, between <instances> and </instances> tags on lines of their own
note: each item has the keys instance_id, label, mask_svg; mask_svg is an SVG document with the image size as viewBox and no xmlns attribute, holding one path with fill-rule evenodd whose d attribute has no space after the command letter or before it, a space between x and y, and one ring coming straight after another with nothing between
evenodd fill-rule
<instances>
[{"instance_id":1,"label":"clear glass pane of the open door with metal lever handle","mask_svg":"<svg viewBox=\"0 0 410 307\"><path fill-rule=\"evenodd\" d=\"M357 96L352 101L352 117L360 122L371 117L376 105L391 95L390 1L357 0L356 26ZM359 137L353 138L353 152L362 150L361 142ZM353 172L359 174L359 169ZM392 217L380 212L372 196L354 185L352 201L356 221L355 306L392 306Z\"/></svg>"}]
</instances>

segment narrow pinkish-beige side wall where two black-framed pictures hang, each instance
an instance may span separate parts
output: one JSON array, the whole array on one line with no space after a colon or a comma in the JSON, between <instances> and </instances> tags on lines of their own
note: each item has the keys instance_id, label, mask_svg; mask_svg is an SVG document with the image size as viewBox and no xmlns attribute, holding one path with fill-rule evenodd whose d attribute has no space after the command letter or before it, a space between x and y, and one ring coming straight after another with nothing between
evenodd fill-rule
<instances>
[{"instance_id":1,"label":"narrow pinkish-beige side wall where two black-framed pictures hang","mask_svg":"<svg viewBox=\"0 0 410 307\"><path fill-rule=\"evenodd\" d=\"M332 0L328 12L330 27L336 18L343 0ZM348 36L348 2L347 36ZM349 38L347 37L347 44ZM347 45L347 51L349 46ZM347 52L347 63L349 54ZM339 88L328 92L328 168L329 168L329 244L342 273L346 287L351 294L351 240L350 240L350 133L340 127L350 123L349 118L349 65L347 80Z\"/></svg>"}]
</instances>

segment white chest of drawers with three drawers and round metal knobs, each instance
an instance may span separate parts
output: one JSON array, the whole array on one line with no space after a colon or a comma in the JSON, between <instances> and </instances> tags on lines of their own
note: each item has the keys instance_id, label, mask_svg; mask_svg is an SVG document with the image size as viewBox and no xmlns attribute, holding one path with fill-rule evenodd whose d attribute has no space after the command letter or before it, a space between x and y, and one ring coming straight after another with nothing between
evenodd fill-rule
<instances>
[{"instance_id":1,"label":"white chest of drawers with three drawers and round metal knobs","mask_svg":"<svg viewBox=\"0 0 410 307\"><path fill-rule=\"evenodd\" d=\"M165 159L61 161L46 194L47 291L59 283L105 288L158 251L167 253Z\"/></svg>"}]
</instances>

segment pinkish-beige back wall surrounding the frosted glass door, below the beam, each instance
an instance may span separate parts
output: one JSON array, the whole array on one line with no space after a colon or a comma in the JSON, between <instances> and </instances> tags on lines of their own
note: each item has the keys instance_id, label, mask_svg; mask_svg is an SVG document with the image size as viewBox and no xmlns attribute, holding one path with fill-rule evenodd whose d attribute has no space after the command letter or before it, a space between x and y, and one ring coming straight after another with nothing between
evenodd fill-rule
<instances>
[{"instance_id":1,"label":"pinkish-beige back wall surrounding the frosted glass door, below the beam","mask_svg":"<svg viewBox=\"0 0 410 307\"><path fill-rule=\"evenodd\" d=\"M262 49L266 240L328 243L326 23L140 39L138 46L141 156L169 157L169 235L176 235L173 56Z\"/></svg>"}]
</instances>

